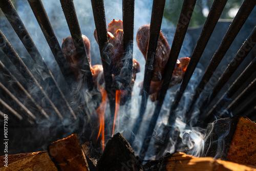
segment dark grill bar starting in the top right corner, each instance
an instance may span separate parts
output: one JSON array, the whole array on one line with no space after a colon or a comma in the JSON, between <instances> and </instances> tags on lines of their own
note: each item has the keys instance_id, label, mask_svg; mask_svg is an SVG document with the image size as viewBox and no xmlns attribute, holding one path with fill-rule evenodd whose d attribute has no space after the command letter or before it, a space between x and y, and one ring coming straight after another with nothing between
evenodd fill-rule
<instances>
[{"instance_id":1,"label":"dark grill bar starting in the top right corner","mask_svg":"<svg viewBox=\"0 0 256 171\"><path fill-rule=\"evenodd\" d=\"M231 46L234 38L236 38L237 34L243 27L246 19L248 18L249 14L251 13L255 5L256 5L256 1L254 0L244 0L244 2L242 3L236 17L234 17L225 36L223 37L221 45L215 52L214 56L212 56L211 61L196 89L195 95L193 96L193 100L191 101L191 104L186 113L186 122L189 122L191 114L194 109L194 104L196 103L199 95L204 90L204 87L206 83L209 81L209 79L211 78L212 74L214 74L216 68L218 67L222 58L224 57L227 50Z\"/></svg>"}]
</instances>

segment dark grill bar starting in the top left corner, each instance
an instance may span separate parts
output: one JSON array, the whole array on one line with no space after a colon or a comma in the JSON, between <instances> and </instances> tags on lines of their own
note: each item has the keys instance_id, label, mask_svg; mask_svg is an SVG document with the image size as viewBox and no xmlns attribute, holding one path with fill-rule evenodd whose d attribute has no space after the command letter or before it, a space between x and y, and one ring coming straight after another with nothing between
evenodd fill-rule
<instances>
[{"instance_id":1,"label":"dark grill bar starting in the top left corner","mask_svg":"<svg viewBox=\"0 0 256 171\"><path fill-rule=\"evenodd\" d=\"M49 84L51 89L61 96L60 99L61 102L66 103L69 111L76 119L75 113L73 109L71 108L69 102L67 101L65 95L60 90L57 81L53 77L52 72L47 67L46 63L44 62L44 59L41 57L39 51L37 50L30 34L28 33L28 30L24 26L22 19L19 17L17 11L15 10L12 2L10 0L3 0L0 1L0 8L4 12L6 18L8 19L9 23L13 27L14 31L18 35L20 41L22 41L23 45L25 46L26 50L30 54L31 58L35 61L35 63L38 65L37 70L39 71L40 77L38 76L37 79L40 82L43 89L47 87L46 84ZM91 72L91 70L90 70ZM35 73L34 73L35 74ZM49 75L49 79L44 79L46 75ZM55 91L56 89L56 91Z\"/></svg>"}]
</instances>

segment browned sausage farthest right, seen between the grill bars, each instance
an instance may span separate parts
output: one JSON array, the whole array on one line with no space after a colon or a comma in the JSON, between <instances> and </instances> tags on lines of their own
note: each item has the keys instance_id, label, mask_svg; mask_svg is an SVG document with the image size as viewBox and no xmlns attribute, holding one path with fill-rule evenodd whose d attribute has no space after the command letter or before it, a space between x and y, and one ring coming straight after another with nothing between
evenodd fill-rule
<instances>
[{"instance_id":1,"label":"browned sausage farthest right, seen between the grill bars","mask_svg":"<svg viewBox=\"0 0 256 171\"><path fill-rule=\"evenodd\" d=\"M150 24L141 26L136 36L137 45L145 59L146 59L147 44L148 44L149 36L150 36ZM154 60L154 72L153 72L153 77L152 77L150 92L149 92L149 94L151 95L150 98L152 101L157 100L158 93L160 92L161 85L162 85L162 76L163 76L164 69L166 67L167 60L169 58L169 53L170 53L170 48L169 48L168 42L164 37L162 31L160 31L156 56ZM168 88L171 88L182 81L189 60L190 58L188 57L183 57L177 60L174 73L172 75L172 80L170 81ZM142 91L142 85L143 85L143 81L139 84L139 87L141 87L141 91Z\"/></svg>"}]
</instances>

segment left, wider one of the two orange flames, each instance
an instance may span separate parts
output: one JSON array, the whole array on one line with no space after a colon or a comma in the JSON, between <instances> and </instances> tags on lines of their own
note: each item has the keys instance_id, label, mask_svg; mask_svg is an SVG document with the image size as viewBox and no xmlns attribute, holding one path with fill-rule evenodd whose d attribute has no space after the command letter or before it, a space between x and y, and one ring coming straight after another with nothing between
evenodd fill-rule
<instances>
[{"instance_id":1,"label":"left, wider one of the two orange flames","mask_svg":"<svg viewBox=\"0 0 256 171\"><path fill-rule=\"evenodd\" d=\"M101 104L99 106L99 108L96 110L97 115L99 116L99 134L97 137L97 141L99 139L99 136L101 135L101 143L102 143L102 149L104 149L104 114L105 114L105 109L106 109L106 101L108 100L108 95L106 94L106 91L104 88L102 88L99 84L98 84L98 88L99 91L101 93L102 96L102 100L101 100Z\"/></svg>"}]
</instances>

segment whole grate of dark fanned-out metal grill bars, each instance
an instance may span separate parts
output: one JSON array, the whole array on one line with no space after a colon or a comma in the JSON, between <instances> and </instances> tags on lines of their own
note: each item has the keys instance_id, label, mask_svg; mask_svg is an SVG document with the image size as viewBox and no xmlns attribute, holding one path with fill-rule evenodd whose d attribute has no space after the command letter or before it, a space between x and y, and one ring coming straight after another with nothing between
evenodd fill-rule
<instances>
[{"instance_id":1,"label":"whole grate of dark fanned-out metal grill bars","mask_svg":"<svg viewBox=\"0 0 256 171\"><path fill-rule=\"evenodd\" d=\"M39 26L42 30L42 33L44 33L44 36L49 44L49 47L51 48L51 51L55 57L55 60L57 61L57 64L60 68L60 71L65 78L67 84L69 85L69 89L73 89L71 84L75 80L75 77L72 76L71 70L69 68L66 68L67 61L65 60L65 57L63 56L61 52L61 48L59 46L59 43L57 41L57 38L53 32L51 23L49 21L49 18L47 16L47 13L45 11L44 6L42 5L42 2L40 0L33 1L28 0L31 9L37 19L37 22L39 23ZM70 33L72 35L72 39L74 41L74 45L76 48L76 51L79 56L79 63L80 68L82 71L82 88L86 89L88 91L93 91L94 89L94 82L92 77L92 72L88 60L88 54L86 51L86 48L84 47L81 30L79 27L75 7L72 0L60 0L61 7L63 9L63 12L65 14ZM101 62L103 66L103 72L104 72L104 79L105 79L105 90L108 93L108 99L110 104L110 110L111 110L111 116L113 117L115 115L115 94L116 89L113 88L113 79L111 74L111 58L106 54L108 52L108 33L106 30L106 21L105 21L105 12L104 12L104 3L103 0L99 1L91 1L92 3L92 9L93 9L93 15L94 15L94 21L95 21L95 27L97 31L97 38L99 42L99 50L100 50L100 56L101 56ZM129 75L132 76L132 62L133 62L133 39L134 39L134 0L123 0L123 33L124 33L124 63L127 64L127 68L129 69ZM196 66L198 65L198 62L206 48L206 45L211 37L212 32L214 31L217 22L220 18L220 15L227 3L227 0L219 1L215 0L212 4L212 7L209 11L208 17L206 19L206 22L203 26L202 32L200 34L200 37L197 41L196 47L191 55L191 59L189 62L189 65L187 67L185 76L183 78L183 81L181 83L180 89L176 94L175 101L172 102L172 106L169 112L169 119L168 124L164 128L163 133L163 144L166 144L166 141L168 141L168 134L170 132L169 125L173 125L175 121L176 116L176 110L178 108L179 102L184 94L184 91L187 87L187 84L193 75L193 72L196 69ZM172 73L175 68L176 61L178 59L181 46L183 44L183 40L185 37L185 34L187 32L188 24L191 19L191 15L194 11L194 7L196 4L196 0L184 0L183 7L181 10L179 22L177 25L177 29L175 32L175 37L173 40L172 48L170 50L169 59L167 61L167 67L165 70L165 74L163 76L163 84L161 87L161 91L159 94L159 100L157 101L157 105L153 114L153 117L151 119L150 125L148 127L148 130L146 131L146 138L144 140L140 157L143 159L145 157L145 152L147 151L149 143L146 143L147 141L150 141L152 134L154 132L154 128L157 122L157 119L159 117L159 113L161 111L163 101L168 89L169 82L172 78ZM144 82L143 82L143 93L142 93L142 100L140 105L140 112L139 112L139 118L137 119L137 122L134 125L133 133L136 136L138 134L139 127L141 125L143 115L146 109L147 104L147 98L148 98L148 92L150 90L150 83L152 80L152 74L153 74L153 63L154 58L157 50L157 42L160 34L160 28L162 24L162 17L163 17L163 11L164 11L164 5L165 1L157 1L154 0L153 2L153 9L152 9L152 17L151 17L151 27L150 27L150 39L148 43L148 49L147 49L147 58L146 58L146 65L145 65L145 74L144 74ZM250 15L251 11L256 5L256 1L254 0L244 0L242 3L239 12L237 13L236 17L233 19L229 29L227 30L225 36L222 39L222 42L217 49L214 56L212 56L212 59L199 83L199 86L197 87L195 91L195 95L193 97L193 100L191 101L190 107L187 110L186 113L186 123L189 127L189 121L191 120L191 115L193 113L193 109L195 106L195 103L197 102L200 94L203 92L207 82L210 80L212 75L214 74L215 70L219 66L219 63L221 62L222 58L226 54L227 50L231 46L233 40L238 35L240 29L243 27L246 19ZM13 29L17 33L20 40L23 42L25 48L29 52L30 56L38 66L39 73L32 72L28 69L28 67L23 62L22 58L19 57L19 55L16 53L16 51L13 49L13 47L10 45L9 41L5 37L5 35L0 31L0 47L4 51L4 53L10 58L10 60L13 62L17 70L24 76L25 79L33 80L33 82L36 84L38 88L40 88L41 96L46 98L48 102L51 104L52 109L55 111L55 113L58 115L60 119L64 119L61 115L59 109L62 108L60 104L65 104L65 108L69 110L70 114L73 116L74 119L77 119L77 116L74 111L77 109L72 109L70 103L72 101L68 100L67 97L65 97L65 94L62 93L60 90L57 81L53 77L53 74L48 69L46 63L44 62L44 59L41 57L40 53L38 52L32 38L30 37L26 27L24 26L22 20L18 16L14 6L12 5L10 0L2 0L0 2L0 8L4 12L6 18L8 19L9 23L12 25ZM253 29L247 40L242 44L240 50L237 52L236 57L230 62L229 66L226 68L225 72L221 75L218 83L212 89L212 91L207 94L207 97L205 98L204 102L202 103L202 106L200 108L200 121L203 121L204 123L208 123L212 121L214 118L214 115L217 115L219 117L225 117L224 113L226 111L232 111L235 106L238 105L239 102L243 100L247 100L250 92L255 91L255 79L248 84L248 87L241 92L240 95L237 96L228 106L227 108L219 114L219 109L221 109L224 104L227 101L230 101L229 98L233 97L235 93L237 93L238 89L243 85L243 83L249 79L249 77L255 72L255 58L253 61L248 65L248 67L245 69L243 73L236 79L236 81L233 82L231 87L225 92L225 94L219 99L219 101L214 105L213 108L208 109L211 107L210 103L214 100L214 98L217 96L217 94L220 92L224 84L228 81L228 79L231 77L233 72L239 67L243 59L249 54L249 52L252 50L254 44L250 44L250 42L255 42L256 38L256 28ZM26 37L26 38L24 38ZM243 53L241 56L240 54L246 49L246 52ZM46 118L49 118L49 115L46 113L44 108L41 106L41 104L37 103L37 98L34 97L33 94L30 94L27 90L28 88L26 85L23 85L18 79L15 78L15 76L12 75L12 72L9 71L4 63L0 61L0 69L2 73L5 75L9 75L8 78L6 78L6 81L13 80L17 83L19 89L21 89L26 96L29 97L29 99L33 102L33 104L36 106L37 110L44 115ZM227 71L227 72L226 72ZM45 75L47 75L48 79L45 79ZM129 85L131 83L129 82ZM16 101L19 106L20 110L25 111L30 117L36 120L35 115L33 115L29 109L26 108L25 105L22 104L22 102L18 101L17 98L15 98L12 93L4 86L4 84L0 83L0 88L7 92L7 94ZM131 92L132 87L126 88L129 92L128 95L128 101L131 100ZM58 104L55 104L54 101L51 100L49 97L51 92L57 93L59 97L61 97L59 100L61 101ZM82 101L82 110L84 113L91 115L91 111L87 109L87 104L84 102L86 101L84 99L84 96L80 96L77 92L77 89L75 89L74 92L72 92L74 96L79 96L78 99ZM253 99L255 99L255 96L253 96ZM72 99L71 99L72 100ZM13 115L15 115L18 119L22 120L22 116L20 116L18 113L19 111L14 111L12 109L12 106L8 105L0 98L0 104L2 104L3 108L8 109ZM248 101L248 103L244 104L244 106L252 106L252 101ZM131 108L131 106L130 106ZM209 110L206 112L206 110ZM242 108L239 112L247 112L248 114L251 114L256 109L251 108L250 110L247 110L245 108ZM0 111L0 114L2 115L3 112ZM238 114L238 112L237 112ZM112 130L112 129L111 129ZM129 142L133 142L134 136L131 136ZM161 148L161 147L160 147ZM160 149L161 150L161 149Z\"/></svg>"}]
</instances>

